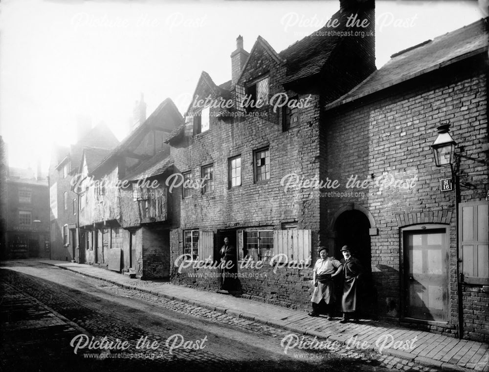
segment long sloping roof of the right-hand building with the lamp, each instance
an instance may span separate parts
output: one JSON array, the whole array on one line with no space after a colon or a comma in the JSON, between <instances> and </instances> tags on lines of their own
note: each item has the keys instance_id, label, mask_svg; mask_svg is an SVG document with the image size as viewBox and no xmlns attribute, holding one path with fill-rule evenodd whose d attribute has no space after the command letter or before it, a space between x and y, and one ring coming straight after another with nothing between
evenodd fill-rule
<instances>
[{"instance_id":1,"label":"long sloping roof of the right-hand building with the lamp","mask_svg":"<svg viewBox=\"0 0 489 372\"><path fill-rule=\"evenodd\" d=\"M391 56L389 62L344 96L326 106L332 109L379 90L420 76L488 50L488 20L481 19Z\"/></svg>"}]
</instances>

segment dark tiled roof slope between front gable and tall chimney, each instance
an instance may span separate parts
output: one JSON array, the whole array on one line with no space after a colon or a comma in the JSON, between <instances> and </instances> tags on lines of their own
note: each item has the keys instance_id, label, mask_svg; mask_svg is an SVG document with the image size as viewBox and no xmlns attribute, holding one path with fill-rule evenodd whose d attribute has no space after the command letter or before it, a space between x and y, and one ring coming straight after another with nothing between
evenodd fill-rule
<instances>
[{"instance_id":1,"label":"dark tiled roof slope between front gable and tall chimney","mask_svg":"<svg viewBox=\"0 0 489 372\"><path fill-rule=\"evenodd\" d=\"M311 35L301 39L279 55L287 61L287 76L282 81L288 83L321 72L321 69L333 54L335 47L347 36L339 36L346 29L350 11L338 10L331 20L338 20L337 27L324 26ZM329 23L329 22L328 22ZM329 34L332 33L332 34ZM346 33L343 33L346 35Z\"/></svg>"}]
</instances>

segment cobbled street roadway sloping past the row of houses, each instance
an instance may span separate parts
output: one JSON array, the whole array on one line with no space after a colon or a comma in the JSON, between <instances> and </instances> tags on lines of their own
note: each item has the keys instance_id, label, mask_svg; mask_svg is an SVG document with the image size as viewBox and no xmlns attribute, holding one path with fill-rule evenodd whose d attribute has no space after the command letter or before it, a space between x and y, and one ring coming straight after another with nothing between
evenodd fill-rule
<instances>
[{"instance_id":1,"label":"cobbled street roadway sloping past the row of houses","mask_svg":"<svg viewBox=\"0 0 489 372\"><path fill-rule=\"evenodd\" d=\"M36 262L7 265L10 270L0 270L5 370L23 370L34 363L40 371L61 370L62 366L111 371L155 366L179 371L436 371L344 346L333 355L328 350L297 348L285 354L281 342L290 332L284 329ZM128 348L80 347L75 354L70 341L82 333L96 340L106 337L106 343L127 341ZM147 337L149 344L156 342L157 347L137 348L141 337ZM199 350L183 348L184 342L196 346L199 340L203 346ZM304 336L304 341L313 340Z\"/></svg>"}]
</instances>

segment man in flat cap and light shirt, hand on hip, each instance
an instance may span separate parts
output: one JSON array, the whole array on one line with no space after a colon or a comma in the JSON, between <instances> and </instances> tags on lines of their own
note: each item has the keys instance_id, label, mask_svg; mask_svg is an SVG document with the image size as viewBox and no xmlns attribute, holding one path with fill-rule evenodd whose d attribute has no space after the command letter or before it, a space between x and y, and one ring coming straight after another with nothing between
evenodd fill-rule
<instances>
[{"instance_id":1,"label":"man in flat cap and light shirt, hand on hip","mask_svg":"<svg viewBox=\"0 0 489 372\"><path fill-rule=\"evenodd\" d=\"M318 316L321 306L326 305L328 320L333 319L334 304L334 282L333 277L341 274L343 266L333 257L328 257L328 248L321 246L318 249L320 258L316 261L312 269L312 282L314 292L312 293L312 311L309 316Z\"/></svg>"}]
</instances>

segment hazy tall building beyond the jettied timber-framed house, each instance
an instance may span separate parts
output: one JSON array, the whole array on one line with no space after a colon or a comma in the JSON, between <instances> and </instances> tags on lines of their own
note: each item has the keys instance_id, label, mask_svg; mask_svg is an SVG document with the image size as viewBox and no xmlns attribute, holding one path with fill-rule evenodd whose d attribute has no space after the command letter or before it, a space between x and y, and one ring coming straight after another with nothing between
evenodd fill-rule
<instances>
[{"instance_id":1,"label":"hazy tall building beyond the jettied timber-framed house","mask_svg":"<svg viewBox=\"0 0 489 372\"><path fill-rule=\"evenodd\" d=\"M103 123L90 129L90 123L80 118L77 129L77 143L69 147L56 146L51 153L49 221L53 260L79 260L76 233L78 196L71 190L71 182L78 173L84 149L113 149L119 143Z\"/></svg>"}]
</instances>

